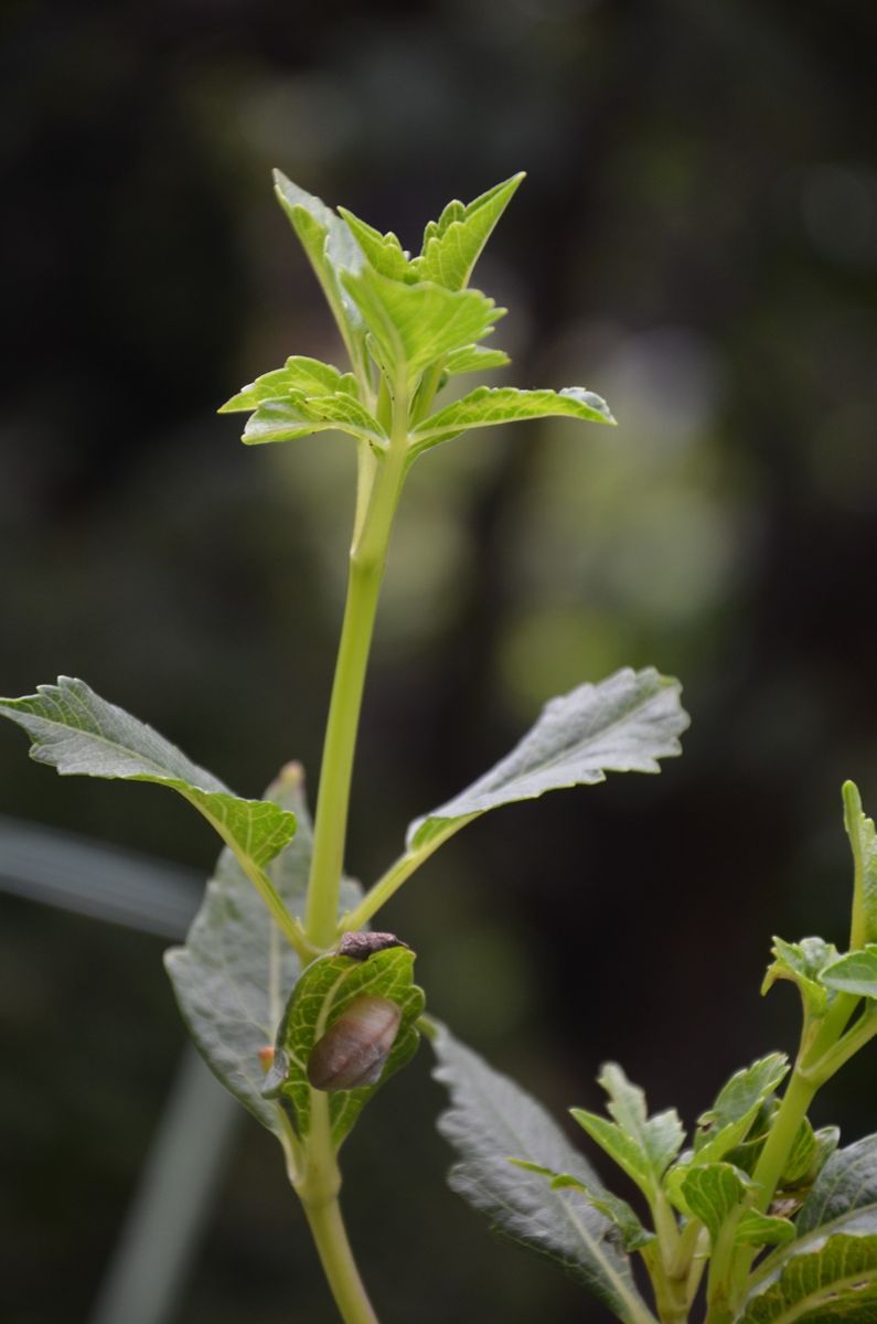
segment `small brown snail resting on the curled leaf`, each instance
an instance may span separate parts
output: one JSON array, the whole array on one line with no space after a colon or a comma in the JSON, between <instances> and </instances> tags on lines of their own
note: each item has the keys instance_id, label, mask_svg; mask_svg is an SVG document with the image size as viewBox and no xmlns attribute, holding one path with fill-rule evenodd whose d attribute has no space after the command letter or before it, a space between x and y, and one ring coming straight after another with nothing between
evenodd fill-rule
<instances>
[{"instance_id":1,"label":"small brown snail resting on the curled leaf","mask_svg":"<svg viewBox=\"0 0 877 1324\"><path fill-rule=\"evenodd\" d=\"M375 1084L389 1057L401 1010L386 997L363 993L333 1021L307 1059L314 1090L358 1090Z\"/></svg>"}]
</instances>

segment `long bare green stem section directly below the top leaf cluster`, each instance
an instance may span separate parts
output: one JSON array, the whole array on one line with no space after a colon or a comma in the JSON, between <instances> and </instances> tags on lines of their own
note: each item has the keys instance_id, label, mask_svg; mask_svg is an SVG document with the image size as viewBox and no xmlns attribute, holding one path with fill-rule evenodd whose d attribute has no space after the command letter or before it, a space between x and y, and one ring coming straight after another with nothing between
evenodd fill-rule
<instances>
[{"instance_id":1,"label":"long bare green stem section directly below the top leaf cluster","mask_svg":"<svg viewBox=\"0 0 877 1324\"><path fill-rule=\"evenodd\" d=\"M389 449L371 475L367 504L364 512L358 512L350 552L347 601L326 723L305 916L307 940L318 949L330 947L335 937L366 670L389 534L405 477L407 409L404 391L397 392Z\"/></svg>"}]
</instances>

